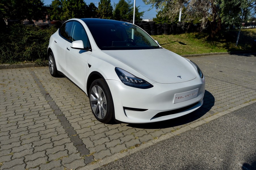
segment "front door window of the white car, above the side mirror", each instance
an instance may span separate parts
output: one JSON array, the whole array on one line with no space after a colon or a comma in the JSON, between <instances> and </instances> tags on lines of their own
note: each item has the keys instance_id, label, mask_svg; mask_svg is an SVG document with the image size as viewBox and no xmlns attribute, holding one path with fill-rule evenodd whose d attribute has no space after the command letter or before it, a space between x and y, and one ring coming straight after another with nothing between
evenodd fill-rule
<instances>
[{"instance_id":1,"label":"front door window of the white car, above the side mirror","mask_svg":"<svg viewBox=\"0 0 256 170\"><path fill-rule=\"evenodd\" d=\"M84 48L91 48L88 36L79 22L73 22L70 41L82 40Z\"/></svg>"}]
</instances>

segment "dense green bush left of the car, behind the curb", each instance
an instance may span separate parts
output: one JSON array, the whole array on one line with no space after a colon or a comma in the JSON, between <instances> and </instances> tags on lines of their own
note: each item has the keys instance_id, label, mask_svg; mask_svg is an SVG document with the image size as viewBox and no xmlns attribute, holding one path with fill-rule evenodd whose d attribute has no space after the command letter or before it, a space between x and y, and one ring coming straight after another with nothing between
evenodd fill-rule
<instances>
[{"instance_id":1,"label":"dense green bush left of the car, behind the curb","mask_svg":"<svg viewBox=\"0 0 256 170\"><path fill-rule=\"evenodd\" d=\"M0 34L0 64L45 63L47 47L55 27L41 30L36 26L16 24Z\"/></svg>"}]
</instances>

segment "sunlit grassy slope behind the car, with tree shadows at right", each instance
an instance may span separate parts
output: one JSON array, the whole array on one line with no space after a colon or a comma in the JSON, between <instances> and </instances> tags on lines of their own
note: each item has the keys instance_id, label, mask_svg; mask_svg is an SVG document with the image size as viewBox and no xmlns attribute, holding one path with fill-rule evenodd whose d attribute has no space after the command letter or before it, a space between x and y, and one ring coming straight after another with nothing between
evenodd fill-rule
<instances>
[{"instance_id":1,"label":"sunlit grassy slope behind the car, with tree shadows at right","mask_svg":"<svg viewBox=\"0 0 256 170\"><path fill-rule=\"evenodd\" d=\"M215 41L207 41L207 33L153 35L152 37L163 48L179 55L251 50L253 40L256 39L256 29L241 29L238 46L235 47L238 31L238 29L221 31Z\"/></svg>"}]
</instances>

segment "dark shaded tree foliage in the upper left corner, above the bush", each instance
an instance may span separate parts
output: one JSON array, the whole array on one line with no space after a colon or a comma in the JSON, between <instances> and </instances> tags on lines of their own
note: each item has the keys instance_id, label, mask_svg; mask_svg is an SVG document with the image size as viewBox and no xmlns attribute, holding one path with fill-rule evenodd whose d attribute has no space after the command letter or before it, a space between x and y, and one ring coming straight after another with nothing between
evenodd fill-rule
<instances>
[{"instance_id":1,"label":"dark shaded tree foliage in the upper left corner, above the bush","mask_svg":"<svg viewBox=\"0 0 256 170\"><path fill-rule=\"evenodd\" d=\"M1 0L0 10L5 19L39 20L46 16L46 8L41 0Z\"/></svg>"}]
</instances>

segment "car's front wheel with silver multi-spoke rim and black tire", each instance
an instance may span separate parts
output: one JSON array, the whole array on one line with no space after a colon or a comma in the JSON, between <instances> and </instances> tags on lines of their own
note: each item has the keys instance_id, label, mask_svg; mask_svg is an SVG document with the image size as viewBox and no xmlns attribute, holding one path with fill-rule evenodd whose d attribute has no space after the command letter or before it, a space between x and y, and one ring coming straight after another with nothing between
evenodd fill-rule
<instances>
[{"instance_id":1,"label":"car's front wheel with silver multi-spoke rim and black tire","mask_svg":"<svg viewBox=\"0 0 256 170\"><path fill-rule=\"evenodd\" d=\"M108 84L102 79L94 80L89 90L89 99L95 118L102 123L114 121L114 103Z\"/></svg>"}]
</instances>

